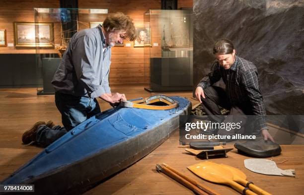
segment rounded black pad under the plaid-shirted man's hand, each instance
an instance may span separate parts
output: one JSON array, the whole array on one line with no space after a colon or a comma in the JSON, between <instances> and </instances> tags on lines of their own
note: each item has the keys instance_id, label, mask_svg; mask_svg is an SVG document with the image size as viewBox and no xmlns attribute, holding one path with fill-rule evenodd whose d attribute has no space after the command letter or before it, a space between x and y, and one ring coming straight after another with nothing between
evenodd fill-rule
<instances>
[{"instance_id":1,"label":"rounded black pad under the plaid-shirted man's hand","mask_svg":"<svg viewBox=\"0 0 304 195\"><path fill-rule=\"evenodd\" d=\"M264 139L236 142L234 147L239 153L262 158L280 155L282 151L279 144Z\"/></svg>"}]
</instances>

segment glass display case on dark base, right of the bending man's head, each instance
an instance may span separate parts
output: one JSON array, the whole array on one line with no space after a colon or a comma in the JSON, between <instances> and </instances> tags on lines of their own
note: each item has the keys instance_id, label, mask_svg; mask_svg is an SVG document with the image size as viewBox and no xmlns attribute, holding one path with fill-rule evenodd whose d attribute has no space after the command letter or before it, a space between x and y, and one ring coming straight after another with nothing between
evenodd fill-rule
<instances>
[{"instance_id":1,"label":"glass display case on dark base, right of the bending man's head","mask_svg":"<svg viewBox=\"0 0 304 195\"><path fill-rule=\"evenodd\" d=\"M145 87L150 92L192 91L192 10L150 9L144 14Z\"/></svg>"}]
</instances>

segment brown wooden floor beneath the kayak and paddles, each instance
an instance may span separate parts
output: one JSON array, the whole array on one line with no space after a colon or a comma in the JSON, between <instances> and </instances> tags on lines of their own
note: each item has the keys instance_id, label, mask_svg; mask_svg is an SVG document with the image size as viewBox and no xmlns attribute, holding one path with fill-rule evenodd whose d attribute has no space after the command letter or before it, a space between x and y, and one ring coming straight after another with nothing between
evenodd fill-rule
<instances>
[{"instance_id":1,"label":"brown wooden floor beneath the kayak and paddles","mask_svg":"<svg viewBox=\"0 0 304 195\"><path fill-rule=\"evenodd\" d=\"M153 95L145 91L143 85L112 86L111 89L113 92L125 93L127 99ZM61 124L61 115L55 106L54 96L37 96L36 92L36 88L0 89L0 181L42 150L42 148L21 144L21 135L24 130L40 120L53 120L56 124ZM165 94L184 96L193 105L197 103L191 98L191 92ZM99 103L102 110L110 108L106 102L99 100ZM163 162L222 195L239 194L228 186L206 182L189 172L186 167L201 160L186 154L184 147L178 143L178 131L175 131L169 139L149 155L86 192L85 195L193 195L184 186L155 171L155 165ZM296 169L296 178L267 176L250 172L243 165L243 160L246 158L248 157L239 155L234 149L228 153L228 158L211 161L239 168L247 175L249 181L273 195L303 194L304 145L282 145L280 156L268 158L273 159L276 163L288 160L278 164L278 167Z\"/></svg>"}]
</instances>

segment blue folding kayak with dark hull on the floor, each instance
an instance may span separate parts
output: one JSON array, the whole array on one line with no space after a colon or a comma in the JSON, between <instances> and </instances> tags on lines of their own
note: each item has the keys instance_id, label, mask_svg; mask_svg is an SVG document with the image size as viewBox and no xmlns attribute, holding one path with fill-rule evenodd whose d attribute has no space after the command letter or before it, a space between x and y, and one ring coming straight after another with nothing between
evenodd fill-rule
<instances>
[{"instance_id":1,"label":"blue folding kayak with dark hull on the floor","mask_svg":"<svg viewBox=\"0 0 304 195\"><path fill-rule=\"evenodd\" d=\"M98 114L49 145L1 184L34 184L41 195L81 194L149 154L179 126L191 103L146 110L117 107Z\"/></svg>"}]
</instances>

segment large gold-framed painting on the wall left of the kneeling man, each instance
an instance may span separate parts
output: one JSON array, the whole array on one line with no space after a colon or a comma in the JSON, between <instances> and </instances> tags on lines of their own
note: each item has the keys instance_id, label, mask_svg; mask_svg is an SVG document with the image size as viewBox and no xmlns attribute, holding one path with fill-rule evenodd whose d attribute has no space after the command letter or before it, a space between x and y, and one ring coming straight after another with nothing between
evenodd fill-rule
<instances>
[{"instance_id":1,"label":"large gold-framed painting on the wall left of the kneeling man","mask_svg":"<svg viewBox=\"0 0 304 195\"><path fill-rule=\"evenodd\" d=\"M54 48L53 23L14 22L16 47Z\"/></svg>"}]
</instances>

